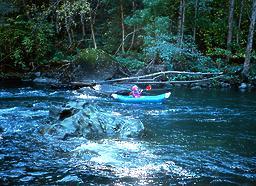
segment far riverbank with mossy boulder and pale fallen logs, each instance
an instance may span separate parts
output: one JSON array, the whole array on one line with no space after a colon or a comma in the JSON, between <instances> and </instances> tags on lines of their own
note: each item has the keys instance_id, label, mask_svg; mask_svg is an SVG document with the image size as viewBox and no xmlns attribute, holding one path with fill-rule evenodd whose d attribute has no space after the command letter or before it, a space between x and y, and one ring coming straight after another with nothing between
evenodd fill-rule
<instances>
[{"instance_id":1,"label":"far riverbank with mossy boulder and pale fallen logs","mask_svg":"<svg viewBox=\"0 0 256 186\"><path fill-rule=\"evenodd\" d=\"M156 87L184 86L192 90L210 88L239 88L253 90L256 87L256 77L241 76L241 68L237 65L222 68L211 67L211 61L201 64L197 71L169 71L169 63L160 58L153 58L148 63L138 63L130 59L131 56L111 56L101 49L87 48L80 50L72 60L60 60L39 65L34 69L15 71L12 69L0 73L4 81L29 81L38 84L49 84L56 89L77 89L83 86L92 87L104 83L146 83ZM179 62L175 62L179 64ZM188 65L189 61L181 62ZM175 68L181 68L178 65ZM195 65L195 64L193 64ZM211 67L211 68L210 68ZM203 72L199 72L199 70ZM210 72L206 72L208 69ZM223 72L222 72L223 71ZM168 73L167 73L168 72ZM170 73L171 72L171 73ZM155 74L152 76L152 74ZM144 77L144 78L137 78ZM130 78L132 81L130 81ZM115 81L115 79L118 79Z\"/></svg>"}]
</instances>

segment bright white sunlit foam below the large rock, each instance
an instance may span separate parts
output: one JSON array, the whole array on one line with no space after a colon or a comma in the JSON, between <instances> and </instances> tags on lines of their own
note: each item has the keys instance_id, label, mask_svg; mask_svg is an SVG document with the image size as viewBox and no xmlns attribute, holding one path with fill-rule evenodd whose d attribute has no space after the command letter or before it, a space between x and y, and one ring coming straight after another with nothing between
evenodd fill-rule
<instances>
[{"instance_id":1,"label":"bright white sunlit foam below the large rock","mask_svg":"<svg viewBox=\"0 0 256 186\"><path fill-rule=\"evenodd\" d=\"M78 157L81 158L83 154L89 154L88 151L94 152L89 160L96 163L92 165L92 169L109 169L120 178L138 178L147 182L147 178L156 173L186 178L196 176L173 161L161 160L160 155L156 155L153 149L140 142L104 140L101 143L88 142L73 150L75 154L80 154ZM81 164L82 169L83 166L84 163Z\"/></svg>"}]
</instances>

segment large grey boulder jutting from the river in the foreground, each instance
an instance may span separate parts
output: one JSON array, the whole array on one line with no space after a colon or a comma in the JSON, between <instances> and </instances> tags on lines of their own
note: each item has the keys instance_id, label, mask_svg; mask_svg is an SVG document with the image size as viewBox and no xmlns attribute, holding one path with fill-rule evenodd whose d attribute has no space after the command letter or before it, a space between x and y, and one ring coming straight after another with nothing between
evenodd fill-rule
<instances>
[{"instance_id":1,"label":"large grey boulder jutting from the river in the foreground","mask_svg":"<svg viewBox=\"0 0 256 186\"><path fill-rule=\"evenodd\" d=\"M84 107L84 105L82 106ZM80 109L72 116L53 125L49 133L54 133L66 139L69 137L138 137L144 130L140 120L116 115L110 111L101 110L95 106Z\"/></svg>"}]
</instances>

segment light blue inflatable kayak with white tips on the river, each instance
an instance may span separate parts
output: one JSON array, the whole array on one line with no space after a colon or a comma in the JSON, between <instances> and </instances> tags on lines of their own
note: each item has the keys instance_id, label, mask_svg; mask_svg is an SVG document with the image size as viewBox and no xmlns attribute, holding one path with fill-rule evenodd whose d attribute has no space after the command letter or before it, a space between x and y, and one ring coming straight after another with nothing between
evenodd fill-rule
<instances>
[{"instance_id":1,"label":"light blue inflatable kayak with white tips on the river","mask_svg":"<svg viewBox=\"0 0 256 186\"><path fill-rule=\"evenodd\" d=\"M111 96L124 103L160 103L170 97L171 93L167 92L164 94L156 95L156 96L141 96L139 98L135 98L133 96L122 96L118 94L112 94Z\"/></svg>"}]
</instances>

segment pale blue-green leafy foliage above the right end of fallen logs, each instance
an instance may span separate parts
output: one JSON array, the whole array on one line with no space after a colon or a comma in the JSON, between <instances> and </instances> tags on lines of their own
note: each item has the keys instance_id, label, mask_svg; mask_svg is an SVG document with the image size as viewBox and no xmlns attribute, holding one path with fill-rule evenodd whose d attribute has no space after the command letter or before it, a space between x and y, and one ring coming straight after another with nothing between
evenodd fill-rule
<instances>
[{"instance_id":1,"label":"pale blue-green leafy foliage above the right end of fallen logs","mask_svg":"<svg viewBox=\"0 0 256 186\"><path fill-rule=\"evenodd\" d=\"M169 33L168 17L156 17L145 26L144 53L147 58L159 57L172 70L205 71L211 61L198 51L190 37L178 43L178 38Z\"/></svg>"}]
</instances>

